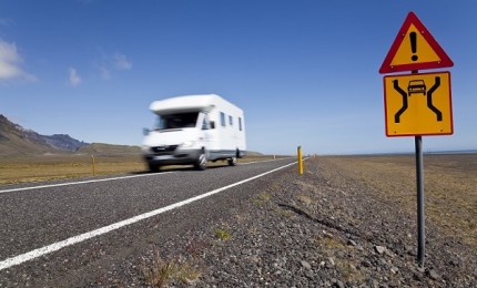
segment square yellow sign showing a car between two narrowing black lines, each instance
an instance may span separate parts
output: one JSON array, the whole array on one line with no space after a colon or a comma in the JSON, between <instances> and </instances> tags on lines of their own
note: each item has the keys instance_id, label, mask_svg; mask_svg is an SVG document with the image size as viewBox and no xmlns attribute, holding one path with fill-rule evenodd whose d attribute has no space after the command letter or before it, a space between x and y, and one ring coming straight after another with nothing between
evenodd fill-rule
<instances>
[{"instance_id":1,"label":"square yellow sign showing a car between two narrowing black lines","mask_svg":"<svg viewBox=\"0 0 477 288\"><path fill-rule=\"evenodd\" d=\"M384 78L386 136L450 135L450 72Z\"/></svg>"}]
</instances>

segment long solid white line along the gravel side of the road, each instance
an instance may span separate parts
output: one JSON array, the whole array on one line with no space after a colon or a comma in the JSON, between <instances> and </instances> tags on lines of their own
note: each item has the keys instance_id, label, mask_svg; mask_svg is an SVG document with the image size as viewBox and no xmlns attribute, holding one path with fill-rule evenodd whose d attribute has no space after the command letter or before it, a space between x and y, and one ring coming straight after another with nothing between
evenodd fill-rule
<instances>
[{"instance_id":1,"label":"long solid white line along the gravel side of the road","mask_svg":"<svg viewBox=\"0 0 477 288\"><path fill-rule=\"evenodd\" d=\"M115 230L115 229L122 228L122 227L124 227L124 226L128 226L128 225L134 224L134 223L136 223L136 222L140 222L140 220L143 220L143 219L146 219L146 218L150 218L150 217L156 216L156 215L162 214L162 213L164 213L164 212L169 212L169 210L172 210L172 209L179 208L179 207L181 207L181 206L184 206L184 205L191 204L191 203L193 203L193 202L196 202L196 200L203 199L203 198L205 198L205 197L212 196L212 195L217 194L217 193L220 193L220 192L223 192L223 191L230 189L230 188L232 188L232 187L235 187L235 186L242 185L242 184L244 184L244 183L247 183L247 182L254 181L254 179L256 179L256 178L263 177L263 176L265 176L265 175L267 175L267 174L271 174L271 173L277 172L277 171L280 171L280 169L286 168L286 167L292 166L292 165L294 165L294 164L296 164L296 162L291 163L291 164L287 164L287 165L284 165L284 166L281 166L281 167L278 167L278 168L275 168L275 169L272 169L272 171L268 171L268 172L265 172L265 173L262 173L262 174L260 174L260 175L256 175L256 176L253 176L253 177L250 177L250 178L246 178L246 179L243 179L243 181L240 181L240 182L233 183L233 184L227 185L227 186L224 186L224 187L222 187L222 188L217 188L217 189L214 189L214 191L207 192L207 193L205 193L205 194L201 194L201 195L199 195L199 196L195 196L195 197L192 197L192 198L189 198L189 199L182 200L182 202L177 202L177 203L175 203L175 204L172 204L172 205L169 205L169 206L165 206L165 207L162 207L162 208L159 208L159 209L152 210L152 212L148 212L148 213L144 213L144 214L141 214L141 215L134 216L134 217L132 217L132 218L129 218L129 219L125 219L125 220L122 220L122 222L118 222L118 223L111 224L111 225L109 225L109 226L104 226L104 227L102 227L102 228L99 228L99 229L95 229L95 230L92 230L92 232L88 232L88 233L84 233L84 234L81 234L81 235L77 235L77 236L70 237L70 238L68 238L68 239L65 239L65 240L58 241L58 243L54 243L54 244L51 244L51 245L48 245L48 246L41 247L41 248L34 249L34 250L31 250L31 251L29 251L29 253L26 253L26 254L21 254L21 255L18 255L18 256L14 256L14 257L8 258L8 259L2 260L2 261L0 263L0 270L3 270L3 269L7 269L7 268L10 268L10 267L12 267L12 266L16 266L16 265L22 264L22 263L24 263L24 261L32 260L32 259L34 259L34 258L41 257L41 256L43 256L43 255L47 255L47 254L50 254L50 253L53 253L53 251L57 251L57 250L59 250L59 249L62 249L62 248L64 248L64 247L68 247L68 246L74 245L74 244L78 244L78 243L81 243L81 241L84 241L84 240L91 239L91 238L93 238L93 237L97 237L97 236L100 236L100 235L103 235L103 234L110 233L110 232L112 232L112 230Z\"/></svg>"}]
</instances>

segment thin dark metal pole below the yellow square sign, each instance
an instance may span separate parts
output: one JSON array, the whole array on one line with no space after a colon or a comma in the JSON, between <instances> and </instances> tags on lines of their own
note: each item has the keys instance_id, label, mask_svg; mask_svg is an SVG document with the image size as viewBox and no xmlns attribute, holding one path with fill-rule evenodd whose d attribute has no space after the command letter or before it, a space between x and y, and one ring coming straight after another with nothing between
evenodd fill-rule
<instances>
[{"instance_id":1,"label":"thin dark metal pole below the yellow square sign","mask_svg":"<svg viewBox=\"0 0 477 288\"><path fill-rule=\"evenodd\" d=\"M424 173L423 173L423 136L415 137L416 179L417 179L417 263L424 267L426 233L424 224Z\"/></svg>"}]
</instances>

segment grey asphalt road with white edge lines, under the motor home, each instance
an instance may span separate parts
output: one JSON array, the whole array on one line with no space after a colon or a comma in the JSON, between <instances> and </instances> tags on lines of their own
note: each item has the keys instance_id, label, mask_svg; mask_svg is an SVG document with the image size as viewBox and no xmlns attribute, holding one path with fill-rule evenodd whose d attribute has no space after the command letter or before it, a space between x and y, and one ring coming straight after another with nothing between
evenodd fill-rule
<instances>
[{"instance_id":1,"label":"grey asphalt road with white edge lines, under the motor home","mask_svg":"<svg viewBox=\"0 0 477 288\"><path fill-rule=\"evenodd\" d=\"M294 162L0 186L0 287L80 285L145 245L206 225Z\"/></svg>"}]
</instances>

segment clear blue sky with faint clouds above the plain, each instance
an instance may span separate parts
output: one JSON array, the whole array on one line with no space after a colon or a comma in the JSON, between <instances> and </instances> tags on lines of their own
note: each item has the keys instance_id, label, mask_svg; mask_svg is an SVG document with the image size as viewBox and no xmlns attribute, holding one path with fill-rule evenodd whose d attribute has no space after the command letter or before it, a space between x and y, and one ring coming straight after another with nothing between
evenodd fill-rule
<instances>
[{"instance_id":1,"label":"clear blue sky with faint clouds above the plain","mask_svg":"<svg viewBox=\"0 0 477 288\"><path fill-rule=\"evenodd\" d=\"M410 11L454 61L437 70L451 73L454 135L423 150L476 150L474 0L2 0L0 114L141 145L151 102L215 93L244 110L248 151L414 152L386 136L378 73Z\"/></svg>"}]
</instances>

